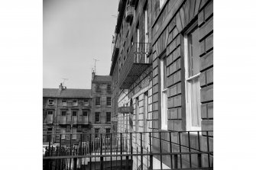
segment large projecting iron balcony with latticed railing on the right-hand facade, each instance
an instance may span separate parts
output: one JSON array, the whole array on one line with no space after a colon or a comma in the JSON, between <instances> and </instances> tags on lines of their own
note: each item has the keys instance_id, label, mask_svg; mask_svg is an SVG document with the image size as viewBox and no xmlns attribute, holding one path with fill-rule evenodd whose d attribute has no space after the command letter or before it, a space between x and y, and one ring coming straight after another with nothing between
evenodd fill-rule
<instances>
[{"instance_id":1,"label":"large projecting iron balcony with latticed railing on the right-hand facade","mask_svg":"<svg viewBox=\"0 0 256 170\"><path fill-rule=\"evenodd\" d=\"M151 43L134 43L119 75L118 86L128 89L151 66Z\"/></svg>"}]
</instances>

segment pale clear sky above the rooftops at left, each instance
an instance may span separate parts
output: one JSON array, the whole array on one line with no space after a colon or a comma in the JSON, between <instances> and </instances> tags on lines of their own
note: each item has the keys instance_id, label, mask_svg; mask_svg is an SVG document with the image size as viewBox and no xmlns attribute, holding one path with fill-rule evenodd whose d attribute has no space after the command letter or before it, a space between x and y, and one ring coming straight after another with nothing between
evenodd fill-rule
<instances>
[{"instance_id":1,"label":"pale clear sky above the rooftops at left","mask_svg":"<svg viewBox=\"0 0 256 170\"><path fill-rule=\"evenodd\" d=\"M118 0L44 0L43 87L91 88L93 59L109 75L117 14Z\"/></svg>"}]
</instances>

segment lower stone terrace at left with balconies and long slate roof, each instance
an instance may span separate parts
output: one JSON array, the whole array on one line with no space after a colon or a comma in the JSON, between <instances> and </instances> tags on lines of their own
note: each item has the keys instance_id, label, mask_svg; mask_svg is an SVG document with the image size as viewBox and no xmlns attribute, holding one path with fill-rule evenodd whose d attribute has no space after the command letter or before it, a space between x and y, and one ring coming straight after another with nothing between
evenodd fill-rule
<instances>
[{"instance_id":1,"label":"lower stone terrace at left with balconies and long slate roof","mask_svg":"<svg viewBox=\"0 0 256 170\"><path fill-rule=\"evenodd\" d=\"M90 133L92 122L92 97L90 89L72 89L63 87L43 89L43 134L44 143L60 143L60 136L46 134L62 134L63 145L79 143L80 135ZM72 133L72 135L70 135ZM86 141L83 136L83 141Z\"/></svg>"}]
</instances>

